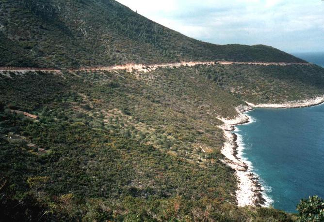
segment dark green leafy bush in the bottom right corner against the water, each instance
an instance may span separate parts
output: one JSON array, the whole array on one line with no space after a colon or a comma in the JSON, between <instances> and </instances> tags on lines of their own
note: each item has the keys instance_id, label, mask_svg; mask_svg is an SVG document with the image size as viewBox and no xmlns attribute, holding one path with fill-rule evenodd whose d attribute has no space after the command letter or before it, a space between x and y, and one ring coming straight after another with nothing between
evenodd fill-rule
<instances>
[{"instance_id":1,"label":"dark green leafy bush in the bottom right corner against the water","mask_svg":"<svg viewBox=\"0 0 324 222\"><path fill-rule=\"evenodd\" d=\"M323 222L324 201L318 196L310 196L308 199L301 199L297 205L300 222Z\"/></svg>"}]
</instances>

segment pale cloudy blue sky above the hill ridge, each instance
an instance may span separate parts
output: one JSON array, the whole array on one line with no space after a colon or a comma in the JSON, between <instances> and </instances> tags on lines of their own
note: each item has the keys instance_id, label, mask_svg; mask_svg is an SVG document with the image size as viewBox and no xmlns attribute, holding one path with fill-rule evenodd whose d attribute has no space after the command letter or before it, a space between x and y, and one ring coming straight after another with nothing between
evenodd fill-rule
<instances>
[{"instance_id":1,"label":"pale cloudy blue sky above the hill ridge","mask_svg":"<svg viewBox=\"0 0 324 222\"><path fill-rule=\"evenodd\" d=\"M189 37L324 52L324 0L117 0Z\"/></svg>"}]
</instances>

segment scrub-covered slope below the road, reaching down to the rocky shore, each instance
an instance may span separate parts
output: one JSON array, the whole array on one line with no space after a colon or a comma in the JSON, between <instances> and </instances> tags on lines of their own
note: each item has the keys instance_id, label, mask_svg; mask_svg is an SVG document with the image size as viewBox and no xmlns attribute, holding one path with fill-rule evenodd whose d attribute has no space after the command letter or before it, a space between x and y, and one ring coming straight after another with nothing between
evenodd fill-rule
<instances>
[{"instance_id":1,"label":"scrub-covered slope below the road, reaching down to the rocky shore","mask_svg":"<svg viewBox=\"0 0 324 222\"><path fill-rule=\"evenodd\" d=\"M217 127L218 116L234 117L246 99L324 94L324 69L286 69L3 72L0 214L16 221L291 221L272 208L236 207L236 178L220 161ZM275 73L272 88L265 76ZM262 97L260 89L273 93Z\"/></svg>"}]
</instances>

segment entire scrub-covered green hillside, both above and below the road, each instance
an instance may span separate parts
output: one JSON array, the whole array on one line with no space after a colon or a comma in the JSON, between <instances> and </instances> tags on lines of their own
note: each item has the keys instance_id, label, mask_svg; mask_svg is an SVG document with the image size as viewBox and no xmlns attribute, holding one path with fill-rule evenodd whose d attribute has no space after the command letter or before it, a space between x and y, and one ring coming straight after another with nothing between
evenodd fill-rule
<instances>
[{"instance_id":1,"label":"entire scrub-covered green hillside, both above and below the road","mask_svg":"<svg viewBox=\"0 0 324 222\"><path fill-rule=\"evenodd\" d=\"M293 64L68 71L199 60ZM113 0L0 0L1 66L62 71L0 70L0 221L297 220L237 206L219 118L323 96L323 68L200 42Z\"/></svg>"}]
</instances>

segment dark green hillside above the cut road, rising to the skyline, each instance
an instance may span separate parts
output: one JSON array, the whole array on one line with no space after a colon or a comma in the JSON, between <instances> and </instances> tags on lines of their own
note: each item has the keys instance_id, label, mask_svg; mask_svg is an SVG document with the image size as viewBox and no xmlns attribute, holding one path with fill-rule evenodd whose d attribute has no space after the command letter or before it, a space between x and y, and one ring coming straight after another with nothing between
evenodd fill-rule
<instances>
[{"instance_id":1,"label":"dark green hillside above the cut road, rising to the skyline","mask_svg":"<svg viewBox=\"0 0 324 222\"><path fill-rule=\"evenodd\" d=\"M1 66L70 68L220 59L303 61L265 45L200 42L150 21L114 0L0 3L0 45L6 49L0 54L4 58L0 60ZM24 57L32 60L22 60Z\"/></svg>"}]
</instances>

